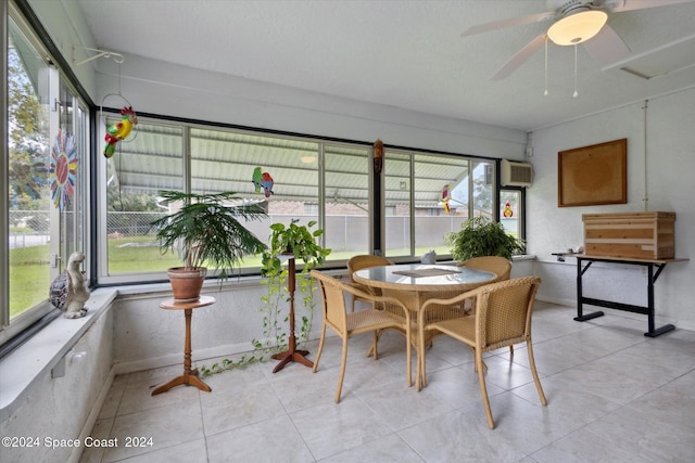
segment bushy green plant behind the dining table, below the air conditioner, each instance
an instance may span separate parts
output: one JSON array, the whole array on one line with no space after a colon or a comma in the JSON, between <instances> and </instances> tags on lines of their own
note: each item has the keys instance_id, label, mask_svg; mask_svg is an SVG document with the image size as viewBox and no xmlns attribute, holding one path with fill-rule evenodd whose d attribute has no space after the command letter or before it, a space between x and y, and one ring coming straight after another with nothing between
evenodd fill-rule
<instances>
[{"instance_id":1,"label":"bushy green plant behind the dining table, below the air conditioner","mask_svg":"<svg viewBox=\"0 0 695 463\"><path fill-rule=\"evenodd\" d=\"M457 232L448 232L444 241L451 247L452 257L458 262L482 256L500 256L511 260L523 253L523 241L507 234L500 222L478 216L466 220Z\"/></svg>"}]
</instances>

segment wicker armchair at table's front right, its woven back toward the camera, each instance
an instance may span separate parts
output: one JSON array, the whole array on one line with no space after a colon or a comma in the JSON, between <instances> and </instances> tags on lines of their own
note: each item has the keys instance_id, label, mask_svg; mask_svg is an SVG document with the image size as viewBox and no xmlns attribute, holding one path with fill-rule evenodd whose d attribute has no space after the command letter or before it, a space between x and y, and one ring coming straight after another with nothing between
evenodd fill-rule
<instances>
[{"instance_id":1,"label":"wicker armchair at table's front right, its woven back toward the camera","mask_svg":"<svg viewBox=\"0 0 695 463\"><path fill-rule=\"evenodd\" d=\"M482 361L482 353L485 351L526 343L535 388L541 403L547 404L535 369L531 342L531 316L540 284L541 279L538 276L507 280L480 286L451 299L430 299L422 307L421 316L426 316L428 309L438 304L457 304L469 297L476 298L475 316L428 323L426 326L419 326L419 330L439 331L467 344L473 350L480 393L488 415L488 426L491 429L495 427L495 422L492 417L485 386L486 368ZM425 371L425 359L422 359L420 366Z\"/></svg>"}]
</instances>

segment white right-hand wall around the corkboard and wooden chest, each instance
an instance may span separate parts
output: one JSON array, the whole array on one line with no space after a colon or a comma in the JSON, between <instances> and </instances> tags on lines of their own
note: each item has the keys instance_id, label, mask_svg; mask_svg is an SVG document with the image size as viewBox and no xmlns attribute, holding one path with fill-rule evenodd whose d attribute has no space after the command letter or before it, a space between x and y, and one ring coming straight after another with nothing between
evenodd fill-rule
<instances>
[{"instance_id":1,"label":"white right-hand wall around the corkboard and wooden chest","mask_svg":"<svg viewBox=\"0 0 695 463\"><path fill-rule=\"evenodd\" d=\"M539 297L574 305L576 259L560 263L551 254L582 244L582 214L639 213L645 206L675 211L675 255L695 256L695 89L649 100L646 130L643 106L639 102L532 133L534 184L528 190L527 227L528 250L538 256L535 271L544 280ZM628 204L557 207L557 153L622 138L628 139ZM693 260L662 271L655 285L658 323L695 330L693 275ZM584 287L587 297L646 305L641 268L594 263ZM639 317L646 327L646 317Z\"/></svg>"}]
</instances>

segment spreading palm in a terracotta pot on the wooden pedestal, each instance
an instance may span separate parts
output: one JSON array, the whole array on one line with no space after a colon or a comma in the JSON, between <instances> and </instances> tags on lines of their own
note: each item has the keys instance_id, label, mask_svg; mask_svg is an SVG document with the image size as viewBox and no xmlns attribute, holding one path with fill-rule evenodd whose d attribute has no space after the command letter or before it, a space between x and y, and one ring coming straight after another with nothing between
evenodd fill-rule
<instances>
[{"instance_id":1,"label":"spreading palm in a terracotta pot on the wooden pedestal","mask_svg":"<svg viewBox=\"0 0 695 463\"><path fill-rule=\"evenodd\" d=\"M180 207L173 214L152 221L162 253L179 248L184 267L168 269L174 298L198 300L207 268L219 271L226 279L243 256L264 252L266 245L251 233L240 220L267 217L258 204L243 204L233 191L220 193L185 193L161 191L160 197Z\"/></svg>"}]
</instances>

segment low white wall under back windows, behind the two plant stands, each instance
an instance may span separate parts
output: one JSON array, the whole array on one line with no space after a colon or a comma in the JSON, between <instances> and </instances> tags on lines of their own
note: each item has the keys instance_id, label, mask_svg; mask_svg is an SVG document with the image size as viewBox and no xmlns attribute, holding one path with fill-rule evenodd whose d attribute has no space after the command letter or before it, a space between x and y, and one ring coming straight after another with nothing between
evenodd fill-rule
<instances>
[{"instance_id":1,"label":"low white wall under back windows, behind the two plant stands","mask_svg":"<svg viewBox=\"0 0 695 463\"><path fill-rule=\"evenodd\" d=\"M203 294L215 297L216 303L193 310L191 317L192 357L207 366L211 363L206 359L248 352L253 350L253 339L263 340L261 297L268 288L261 284L260 278L233 280L225 283L224 288L206 282ZM116 374L184 362L184 312L161 309L159 304L172 297L172 293L168 283L157 285L157 288L160 291L147 294L129 291L114 304ZM320 304L318 293L316 303ZM287 305L283 306L282 313L287 313ZM296 312L301 320L305 312L299 296ZM319 310L315 313L320 317ZM320 321L314 325L314 330L317 329L320 329Z\"/></svg>"}]
</instances>

